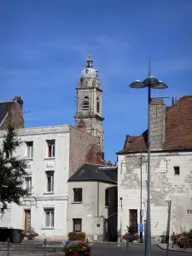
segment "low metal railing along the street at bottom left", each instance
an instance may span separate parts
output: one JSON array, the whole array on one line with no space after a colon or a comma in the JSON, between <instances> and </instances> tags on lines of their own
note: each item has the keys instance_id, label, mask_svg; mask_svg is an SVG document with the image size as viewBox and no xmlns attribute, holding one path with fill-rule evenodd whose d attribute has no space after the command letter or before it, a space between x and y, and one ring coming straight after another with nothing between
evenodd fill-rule
<instances>
[{"instance_id":1,"label":"low metal railing along the street at bottom left","mask_svg":"<svg viewBox=\"0 0 192 256\"><path fill-rule=\"evenodd\" d=\"M22 241L14 244L9 241L0 243L0 256L14 256L14 255L44 255L49 253L62 252L62 243L53 241ZM63 253L64 254L64 253Z\"/></svg>"}]
</instances>

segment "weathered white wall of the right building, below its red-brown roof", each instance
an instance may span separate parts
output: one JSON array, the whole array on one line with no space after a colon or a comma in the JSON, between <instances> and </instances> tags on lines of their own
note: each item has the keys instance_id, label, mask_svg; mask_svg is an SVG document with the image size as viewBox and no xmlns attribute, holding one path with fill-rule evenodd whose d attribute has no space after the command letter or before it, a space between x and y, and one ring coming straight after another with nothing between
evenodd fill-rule
<instances>
[{"instance_id":1,"label":"weathered white wall of the right building, below its red-brown roof","mask_svg":"<svg viewBox=\"0 0 192 256\"><path fill-rule=\"evenodd\" d=\"M141 155L118 156L118 230L125 234L129 225L130 209L137 209L140 222ZM167 203L172 200L171 233L180 226L191 228L192 213L192 153L151 154L151 229L152 236L161 236L166 231ZM147 207L147 154L143 154L143 219ZM173 166L180 166L180 175L174 174ZM122 209L119 198L122 197Z\"/></svg>"}]
</instances>

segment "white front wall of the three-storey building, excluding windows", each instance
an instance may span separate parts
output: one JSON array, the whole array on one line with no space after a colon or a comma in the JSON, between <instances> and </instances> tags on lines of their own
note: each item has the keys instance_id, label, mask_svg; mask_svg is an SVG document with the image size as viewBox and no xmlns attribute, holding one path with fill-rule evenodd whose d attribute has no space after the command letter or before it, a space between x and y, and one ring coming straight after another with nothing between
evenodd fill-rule
<instances>
[{"instance_id":1,"label":"white front wall of the three-storey building, excluding windows","mask_svg":"<svg viewBox=\"0 0 192 256\"><path fill-rule=\"evenodd\" d=\"M33 158L28 160L29 166L26 170L32 176L32 196L24 199L22 207L11 204L9 226L24 229L24 209L31 209L32 227L40 236L65 238L67 236L69 126L26 128L18 131L18 136L23 142L33 142ZM0 133L0 137L2 141L3 132ZM55 139L55 158L48 158L46 140L52 139ZM16 154L26 156L25 143L22 143ZM54 193L47 193L46 171L55 171ZM44 228L45 207L55 209L55 225L53 229Z\"/></svg>"}]
</instances>

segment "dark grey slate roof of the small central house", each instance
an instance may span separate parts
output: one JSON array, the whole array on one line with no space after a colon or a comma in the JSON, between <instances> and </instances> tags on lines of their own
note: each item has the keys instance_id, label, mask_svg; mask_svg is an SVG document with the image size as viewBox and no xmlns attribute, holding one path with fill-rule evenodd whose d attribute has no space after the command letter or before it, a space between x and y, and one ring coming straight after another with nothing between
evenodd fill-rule
<instances>
[{"instance_id":1,"label":"dark grey slate roof of the small central house","mask_svg":"<svg viewBox=\"0 0 192 256\"><path fill-rule=\"evenodd\" d=\"M100 167L90 163L84 163L79 169L69 177L68 182L88 182L97 181L103 183L113 183L117 182L113 178L109 177L105 172L100 170Z\"/></svg>"}]
</instances>

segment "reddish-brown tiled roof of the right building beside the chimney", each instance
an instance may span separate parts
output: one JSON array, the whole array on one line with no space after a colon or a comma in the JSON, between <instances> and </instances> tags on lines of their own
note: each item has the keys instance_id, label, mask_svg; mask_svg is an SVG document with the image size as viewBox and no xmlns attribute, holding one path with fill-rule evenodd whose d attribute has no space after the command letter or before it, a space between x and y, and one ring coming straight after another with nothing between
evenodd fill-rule
<instances>
[{"instance_id":1,"label":"reddish-brown tiled roof of the right building beside the chimney","mask_svg":"<svg viewBox=\"0 0 192 256\"><path fill-rule=\"evenodd\" d=\"M125 142L127 137L125 139ZM118 154L147 151L148 130L132 143L126 143ZM163 149L192 150L192 96L183 96L171 108L166 108L166 138Z\"/></svg>"}]
</instances>

